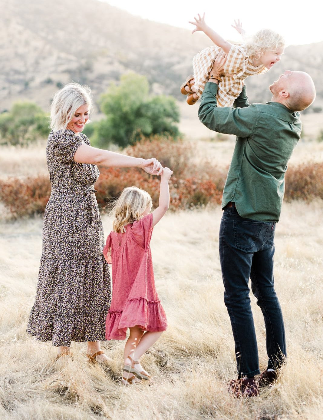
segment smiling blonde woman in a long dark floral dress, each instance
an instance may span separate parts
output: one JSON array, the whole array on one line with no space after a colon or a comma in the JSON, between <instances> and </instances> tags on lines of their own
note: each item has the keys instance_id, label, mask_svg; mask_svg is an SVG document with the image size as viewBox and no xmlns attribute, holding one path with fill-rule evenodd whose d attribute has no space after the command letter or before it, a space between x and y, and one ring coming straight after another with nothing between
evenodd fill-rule
<instances>
[{"instance_id":1,"label":"smiling blonde woman in a long dark floral dress","mask_svg":"<svg viewBox=\"0 0 323 420\"><path fill-rule=\"evenodd\" d=\"M36 299L27 331L52 340L57 358L70 354L71 341L87 341L91 362L107 363L100 349L110 306L108 264L102 254L103 228L95 199L97 164L142 168L160 175L158 160L95 149L82 134L92 108L90 89L70 83L51 105L46 148L52 192L43 225Z\"/></svg>"}]
</instances>

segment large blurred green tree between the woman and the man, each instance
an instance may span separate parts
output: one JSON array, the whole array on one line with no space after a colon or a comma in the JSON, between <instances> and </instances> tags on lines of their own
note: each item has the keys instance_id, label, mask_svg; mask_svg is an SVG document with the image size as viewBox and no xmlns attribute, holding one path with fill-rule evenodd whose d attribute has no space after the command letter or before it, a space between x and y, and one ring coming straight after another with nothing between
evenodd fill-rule
<instances>
[{"instance_id":1,"label":"large blurred green tree between the woman and the man","mask_svg":"<svg viewBox=\"0 0 323 420\"><path fill-rule=\"evenodd\" d=\"M97 146L109 143L125 147L143 134L169 133L175 138L179 129L179 109L174 98L149 95L145 76L130 73L121 76L120 84L111 84L101 96L100 108L106 118L95 124L93 140Z\"/></svg>"}]
</instances>

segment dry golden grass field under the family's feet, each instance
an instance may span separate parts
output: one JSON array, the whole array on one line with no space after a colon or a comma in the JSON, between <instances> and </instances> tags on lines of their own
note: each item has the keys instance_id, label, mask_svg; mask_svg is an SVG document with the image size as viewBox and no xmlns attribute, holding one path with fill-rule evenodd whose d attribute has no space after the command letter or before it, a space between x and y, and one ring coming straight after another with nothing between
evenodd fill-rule
<instances>
[{"instance_id":1,"label":"dry golden grass field under the family's feet","mask_svg":"<svg viewBox=\"0 0 323 420\"><path fill-rule=\"evenodd\" d=\"M288 362L278 383L250 400L229 396L234 343L218 258L219 207L165 215L152 255L168 331L144 355L155 377L123 387L123 341L103 344L108 374L90 367L85 344L55 361L50 343L26 333L41 254L41 218L0 223L0 418L4 420L318 420L323 412L322 202L284 204L276 228L276 290L286 324ZM111 220L103 217L107 235ZM260 367L265 331L252 299Z\"/></svg>"}]
</instances>

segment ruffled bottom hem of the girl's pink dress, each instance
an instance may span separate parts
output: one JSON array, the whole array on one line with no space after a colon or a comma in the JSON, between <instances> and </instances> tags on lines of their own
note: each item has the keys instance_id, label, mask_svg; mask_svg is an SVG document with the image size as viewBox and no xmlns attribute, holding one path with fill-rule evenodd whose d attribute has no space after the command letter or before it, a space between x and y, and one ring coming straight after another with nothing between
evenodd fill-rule
<instances>
[{"instance_id":1,"label":"ruffled bottom hem of the girl's pink dress","mask_svg":"<svg viewBox=\"0 0 323 420\"><path fill-rule=\"evenodd\" d=\"M105 321L105 339L126 339L127 328L139 325L145 331L166 331L167 319L160 300L144 297L131 299L123 311L109 311Z\"/></svg>"}]
</instances>

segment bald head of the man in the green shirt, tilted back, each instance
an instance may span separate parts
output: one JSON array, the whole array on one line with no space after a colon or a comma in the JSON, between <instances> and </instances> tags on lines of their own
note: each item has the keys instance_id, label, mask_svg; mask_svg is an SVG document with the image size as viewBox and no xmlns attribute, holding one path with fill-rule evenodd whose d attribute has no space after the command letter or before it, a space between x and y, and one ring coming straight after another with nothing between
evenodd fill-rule
<instances>
[{"instance_id":1,"label":"bald head of the man in the green shirt, tilted back","mask_svg":"<svg viewBox=\"0 0 323 420\"><path fill-rule=\"evenodd\" d=\"M291 111L302 111L315 99L315 86L312 78L304 71L286 70L269 87L273 101L279 102Z\"/></svg>"}]
</instances>

